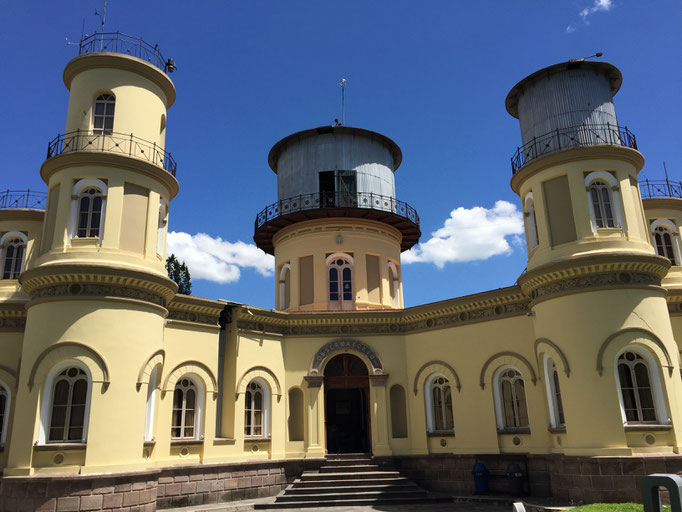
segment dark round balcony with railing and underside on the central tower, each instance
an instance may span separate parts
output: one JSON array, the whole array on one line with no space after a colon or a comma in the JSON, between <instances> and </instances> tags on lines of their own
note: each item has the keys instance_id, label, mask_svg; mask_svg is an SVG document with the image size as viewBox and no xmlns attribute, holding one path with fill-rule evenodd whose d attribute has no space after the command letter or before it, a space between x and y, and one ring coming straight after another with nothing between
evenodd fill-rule
<instances>
[{"instance_id":1,"label":"dark round balcony with railing and underside on the central tower","mask_svg":"<svg viewBox=\"0 0 682 512\"><path fill-rule=\"evenodd\" d=\"M290 197L266 206L256 216L256 245L274 254L273 236L281 229L311 219L361 218L383 222L402 234L401 250L414 246L421 236L419 215L409 204L371 192L317 193Z\"/></svg>"}]
</instances>

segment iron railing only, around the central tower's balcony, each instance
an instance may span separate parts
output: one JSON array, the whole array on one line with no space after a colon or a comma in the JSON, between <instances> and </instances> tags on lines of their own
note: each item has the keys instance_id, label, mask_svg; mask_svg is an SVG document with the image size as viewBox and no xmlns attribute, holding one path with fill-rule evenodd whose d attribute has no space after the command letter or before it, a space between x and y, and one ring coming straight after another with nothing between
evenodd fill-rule
<instances>
[{"instance_id":1,"label":"iron railing only, around the central tower's balcony","mask_svg":"<svg viewBox=\"0 0 682 512\"><path fill-rule=\"evenodd\" d=\"M409 204L398 201L390 196L382 196L371 192L348 193L321 193L304 194L277 201L263 208L256 216L256 229L266 222L277 217L297 213L305 210L318 210L323 208L361 208L380 210L404 217L413 224L419 226L417 210Z\"/></svg>"}]
</instances>

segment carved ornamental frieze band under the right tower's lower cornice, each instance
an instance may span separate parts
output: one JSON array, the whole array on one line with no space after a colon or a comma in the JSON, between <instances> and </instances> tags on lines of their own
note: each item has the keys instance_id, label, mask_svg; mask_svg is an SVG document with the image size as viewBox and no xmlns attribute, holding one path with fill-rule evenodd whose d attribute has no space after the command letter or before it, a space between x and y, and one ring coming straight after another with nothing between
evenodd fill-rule
<instances>
[{"instance_id":1,"label":"carved ornamental frieze band under the right tower's lower cornice","mask_svg":"<svg viewBox=\"0 0 682 512\"><path fill-rule=\"evenodd\" d=\"M621 271L599 272L560 279L538 286L531 292L534 301L544 300L553 295L580 291L586 288L660 286L661 278L648 272Z\"/></svg>"}]
</instances>

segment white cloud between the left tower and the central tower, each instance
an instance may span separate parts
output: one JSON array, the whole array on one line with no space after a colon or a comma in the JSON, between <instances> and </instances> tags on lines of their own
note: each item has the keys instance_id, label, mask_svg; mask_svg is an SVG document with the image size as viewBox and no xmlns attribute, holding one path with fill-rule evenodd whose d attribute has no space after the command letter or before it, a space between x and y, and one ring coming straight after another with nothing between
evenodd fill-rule
<instances>
[{"instance_id":1,"label":"white cloud between the left tower and the central tower","mask_svg":"<svg viewBox=\"0 0 682 512\"><path fill-rule=\"evenodd\" d=\"M272 275L275 268L275 258L254 244L226 242L206 233L190 235L171 231L166 253L184 261L193 279L216 283L239 281L243 268L253 268L262 276Z\"/></svg>"}]
</instances>

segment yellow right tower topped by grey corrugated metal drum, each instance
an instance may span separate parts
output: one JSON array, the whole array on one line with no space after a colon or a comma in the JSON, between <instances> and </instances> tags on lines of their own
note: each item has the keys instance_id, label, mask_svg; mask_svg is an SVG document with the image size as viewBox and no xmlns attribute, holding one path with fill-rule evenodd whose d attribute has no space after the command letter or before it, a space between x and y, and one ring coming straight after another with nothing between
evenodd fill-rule
<instances>
[{"instance_id":1,"label":"yellow right tower topped by grey corrugated metal drum","mask_svg":"<svg viewBox=\"0 0 682 512\"><path fill-rule=\"evenodd\" d=\"M661 287L670 262L648 235L644 158L616 121L621 81L611 64L570 61L523 79L506 100L523 139L511 180L529 254L519 284L531 297L550 432L566 455L672 452L682 432Z\"/></svg>"}]
</instances>

